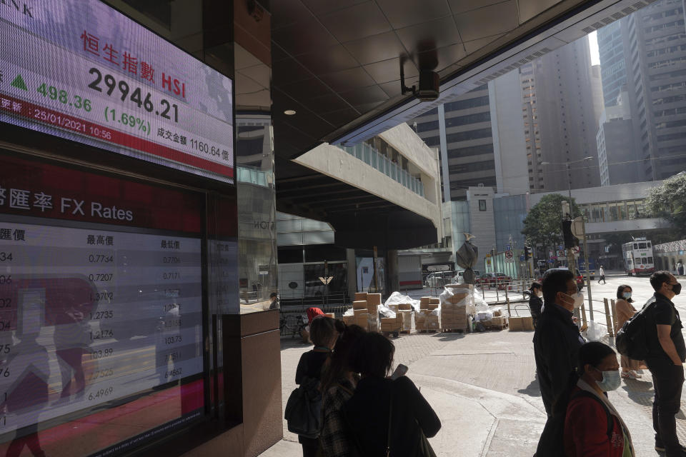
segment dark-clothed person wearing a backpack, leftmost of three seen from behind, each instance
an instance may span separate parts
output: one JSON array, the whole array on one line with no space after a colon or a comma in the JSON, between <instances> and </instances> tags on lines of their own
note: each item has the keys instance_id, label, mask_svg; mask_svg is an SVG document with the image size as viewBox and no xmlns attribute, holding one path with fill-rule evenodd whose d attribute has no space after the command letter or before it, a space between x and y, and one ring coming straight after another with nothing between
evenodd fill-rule
<instances>
[{"instance_id":1,"label":"dark-clothed person wearing a backpack, leftmost of three seen from behind","mask_svg":"<svg viewBox=\"0 0 686 457\"><path fill-rule=\"evenodd\" d=\"M314 343L314 349L303 353L295 371L295 383L310 386L319 385L322 379L322 367L329 358L337 338L334 319L318 316L312 320L309 338ZM319 386L317 386L319 387ZM319 438L298 435L298 442L302 444L303 457L317 456Z\"/></svg>"}]
</instances>

